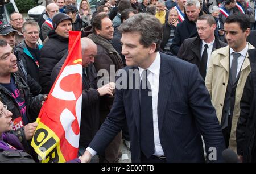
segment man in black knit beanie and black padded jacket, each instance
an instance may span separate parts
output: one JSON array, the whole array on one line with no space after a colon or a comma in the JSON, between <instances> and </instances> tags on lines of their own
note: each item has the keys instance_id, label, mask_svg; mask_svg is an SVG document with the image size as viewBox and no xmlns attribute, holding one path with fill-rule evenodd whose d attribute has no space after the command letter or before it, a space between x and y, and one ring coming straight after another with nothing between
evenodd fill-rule
<instances>
[{"instance_id":1,"label":"man in black knit beanie and black padded jacket","mask_svg":"<svg viewBox=\"0 0 256 174\"><path fill-rule=\"evenodd\" d=\"M68 51L69 31L72 30L72 18L64 13L57 13L52 18L53 30L48 34L48 40L44 41L44 47L40 51L39 82L42 93L48 94L51 89L51 72L53 67Z\"/></svg>"}]
</instances>

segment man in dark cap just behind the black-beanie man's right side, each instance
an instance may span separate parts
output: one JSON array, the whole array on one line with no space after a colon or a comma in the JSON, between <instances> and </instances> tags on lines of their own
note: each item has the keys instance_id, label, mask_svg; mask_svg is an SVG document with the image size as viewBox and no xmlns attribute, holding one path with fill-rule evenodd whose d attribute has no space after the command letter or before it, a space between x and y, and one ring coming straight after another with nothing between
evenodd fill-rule
<instances>
[{"instance_id":1,"label":"man in dark cap just behind the black-beanie man's right side","mask_svg":"<svg viewBox=\"0 0 256 174\"><path fill-rule=\"evenodd\" d=\"M81 31L82 28L88 26L88 23L86 23L86 20L82 20L80 16L78 15L77 7L71 5L67 6L65 9L65 14L69 15L69 17L72 18L72 27L73 31Z\"/></svg>"}]
</instances>

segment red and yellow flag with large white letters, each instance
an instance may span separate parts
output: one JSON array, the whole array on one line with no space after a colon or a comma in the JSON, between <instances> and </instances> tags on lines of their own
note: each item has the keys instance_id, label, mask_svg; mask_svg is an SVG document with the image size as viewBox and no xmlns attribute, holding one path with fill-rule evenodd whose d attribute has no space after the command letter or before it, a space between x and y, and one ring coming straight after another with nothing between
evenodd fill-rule
<instances>
[{"instance_id":1,"label":"red and yellow flag with large white letters","mask_svg":"<svg viewBox=\"0 0 256 174\"><path fill-rule=\"evenodd\" d=\"M82 103L81 32L69 32L69 54L40 110L31 146L43 163L77 157Z\"/></svg>"}]
</instances>

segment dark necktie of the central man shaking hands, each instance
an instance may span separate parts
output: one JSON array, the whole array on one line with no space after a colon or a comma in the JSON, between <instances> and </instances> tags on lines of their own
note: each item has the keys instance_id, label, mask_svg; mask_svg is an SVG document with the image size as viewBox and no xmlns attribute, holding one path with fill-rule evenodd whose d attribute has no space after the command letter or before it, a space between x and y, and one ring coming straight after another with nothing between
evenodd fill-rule
<instances>
[{"instance_id":1,"label":"dark necktie of the central man shaking hands","mask_svg":"<svg viewBox=\"0 0 256 174\"><path fill-rule=\"evenodd\" d=\"M142 72L141 80L141 150L143 154L150 158L154 154L154 129L153 129L153 109L150 82L147 80L149 71Z\"/></svg>"}]
</instances>

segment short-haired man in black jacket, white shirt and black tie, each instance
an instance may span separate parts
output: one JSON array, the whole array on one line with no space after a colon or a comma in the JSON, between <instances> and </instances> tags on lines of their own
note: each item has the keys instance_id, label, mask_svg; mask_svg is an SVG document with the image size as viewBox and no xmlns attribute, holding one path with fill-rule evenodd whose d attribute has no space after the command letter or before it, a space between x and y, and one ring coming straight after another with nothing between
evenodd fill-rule
<instances>
[{"instance_id":1,"label":"short-haired man in black jacket, white shirt and black tie","mask_svg":"<svg viewBox=\"0 0 256 174\"><path fill-rule=\"evenodd\" d=\"M177 57L196 64L201 76L205 79L210 55L215 49L225 47L227 44L214 36L217 25L212 15L200 16L197 19L196 27L199 36L185 39Z\"/></svg>"}]
</instances>

